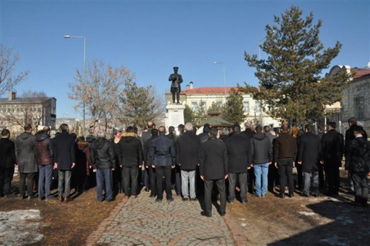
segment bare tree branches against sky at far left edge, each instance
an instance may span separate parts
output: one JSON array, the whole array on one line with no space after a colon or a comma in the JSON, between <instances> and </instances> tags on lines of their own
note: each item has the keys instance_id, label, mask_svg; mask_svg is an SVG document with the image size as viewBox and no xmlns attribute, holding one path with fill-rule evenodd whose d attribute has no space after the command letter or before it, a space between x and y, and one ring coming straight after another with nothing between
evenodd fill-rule
<instances>
[{"instance_id":1,"label":"bare tree branches against sky at far left edge","mask_svg":"<svg viewBox=\"0 0 370 246\"><path fill-rule=\"evenodd\" d=\"M0 95L27 77L28 70L12 75L18 60L19 55L13 52L13 48L7 48L0 43Z\"/></svg>"}]
</instances>

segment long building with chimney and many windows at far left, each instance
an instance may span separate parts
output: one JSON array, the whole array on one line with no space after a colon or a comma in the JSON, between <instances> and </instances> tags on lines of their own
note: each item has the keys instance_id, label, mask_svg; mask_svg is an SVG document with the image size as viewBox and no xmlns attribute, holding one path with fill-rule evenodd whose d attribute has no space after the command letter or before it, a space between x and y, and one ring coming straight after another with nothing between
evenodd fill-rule
<instances>
[{"instance_id":1,"label":"long building with chimney and many windows at far left","mask_svg":"<svg viewBox=\"0 0 370 246\"><path fill-rule=\"evenodd\" d=\"M55 97L16 97L9 91L7 98L0 98L0 127L22 130L22 125L48 125L55 129Z\"/></svg>"}]
</instances>

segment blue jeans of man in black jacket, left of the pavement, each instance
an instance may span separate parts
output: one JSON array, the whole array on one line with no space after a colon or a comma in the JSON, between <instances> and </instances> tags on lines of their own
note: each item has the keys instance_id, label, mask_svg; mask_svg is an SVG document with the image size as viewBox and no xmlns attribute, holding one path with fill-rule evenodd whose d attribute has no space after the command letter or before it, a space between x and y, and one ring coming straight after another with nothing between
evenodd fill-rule
<instances>
[{"instance_id":1,"label":"blue jeans of man in black jacket, left of the pavement","mask_svg":"<svg viewBox=\"0 0 370 246\"><path fill-rule=\"evenodd\" d=\"M96 169L96 196L98 201L103 200L103 187L105 183L105 200L113 199L112 192L112 170L111 168Z\"/></svg>"}]
</instances>

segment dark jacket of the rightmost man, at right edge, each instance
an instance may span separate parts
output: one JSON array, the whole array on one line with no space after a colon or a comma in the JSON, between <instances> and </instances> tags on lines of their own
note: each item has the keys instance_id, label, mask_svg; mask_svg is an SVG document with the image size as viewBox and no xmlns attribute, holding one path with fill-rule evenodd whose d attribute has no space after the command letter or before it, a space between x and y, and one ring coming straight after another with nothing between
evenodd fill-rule
<instances>
[{"instance_id":1,"label":"dark jacket of the rightmost man, at right edge","mask_svg":"<svg viewBox=\"0 0 370 246\"><path fill-rule=\"evenodd\" d=\"M345 167L350 172L370 171L370 142L362 137L352 139L345 149Z\"/></svg>"}]
</instances>

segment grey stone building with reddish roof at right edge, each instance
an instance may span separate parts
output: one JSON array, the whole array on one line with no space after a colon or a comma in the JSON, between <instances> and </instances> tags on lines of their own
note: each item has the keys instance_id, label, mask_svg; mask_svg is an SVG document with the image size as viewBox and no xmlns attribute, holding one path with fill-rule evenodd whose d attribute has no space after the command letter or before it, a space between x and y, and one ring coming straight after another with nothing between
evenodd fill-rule
<instances>
[{"instance_id":1,"label":"grey stone building with reddish roof at right edge","mask_svg":"<svg viewBox=\"0 0 370 246\"><path fill-rule=\"evenodd\" d=\"M347 120L355 117L358 125L370 131L370 68L357 68L348 65L335 65L326 75L346 70L354 73L348 88L343 90L340 108L333 120L340 121L343 130L348 128Z\"/></svg>"}]
</instances>

